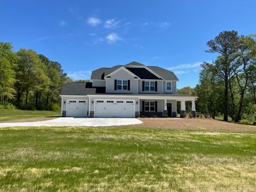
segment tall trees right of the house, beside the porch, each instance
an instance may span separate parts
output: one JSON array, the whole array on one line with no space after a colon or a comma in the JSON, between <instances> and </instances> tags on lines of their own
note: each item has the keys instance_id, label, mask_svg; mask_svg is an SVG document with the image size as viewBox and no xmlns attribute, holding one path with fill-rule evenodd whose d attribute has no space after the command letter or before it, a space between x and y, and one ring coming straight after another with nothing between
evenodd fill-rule
<instances>
[{"instance_id":1,"label":"tall trees right of the house, beside the porch","mask_svg":"<svg viewBox=\"0 0 256 192\"><path fill-rule=\"evenodd\" d=\"M255 35L223 31L207 42L206 52L217 54L211 63L202 63L199 83L180 93L198 96L196 109L215 118L223 115L234 122L256 122L256 40Z\"/></svg>"}]
</instances>

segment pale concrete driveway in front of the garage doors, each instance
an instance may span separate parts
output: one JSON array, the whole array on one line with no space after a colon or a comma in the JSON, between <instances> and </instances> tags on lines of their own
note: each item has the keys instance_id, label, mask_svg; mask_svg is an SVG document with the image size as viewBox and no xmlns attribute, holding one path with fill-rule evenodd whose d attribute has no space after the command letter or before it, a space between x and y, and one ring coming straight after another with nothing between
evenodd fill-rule
<instances>
[{"instance_id":1,"label":"pale concrete driveway in front of the garage doors","mask_svg":"<svg viewBox=\"0 0 256 192\"><path fill-rule=\"evenodd\" d=\"M38 127L38 126L86 126L103 127L116 125L134 125L142 124L137 118L73 118L60 117L42 122L20 122L20 123L0 123L0 127Z\"/></svg>"}]
</instances>

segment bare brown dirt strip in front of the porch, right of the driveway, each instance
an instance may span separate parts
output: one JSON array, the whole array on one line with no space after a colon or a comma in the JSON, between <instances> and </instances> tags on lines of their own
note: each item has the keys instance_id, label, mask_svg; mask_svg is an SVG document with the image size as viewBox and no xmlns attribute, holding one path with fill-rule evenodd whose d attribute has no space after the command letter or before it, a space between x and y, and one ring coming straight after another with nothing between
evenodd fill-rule
<instances>
[{"instance_id":1,"label":"bare brown dirt strip in front of the porch, right of the driveway","mask_svg":"<svg viewBox=\"0 0 256 192\"><path fill-rule=\"evenodd\" d=\"M179 130L256 132L255 125L241 125L207 118L140 118L143 124L133 125L138 128L161 128Z\"/></svg>"}]
</instances>

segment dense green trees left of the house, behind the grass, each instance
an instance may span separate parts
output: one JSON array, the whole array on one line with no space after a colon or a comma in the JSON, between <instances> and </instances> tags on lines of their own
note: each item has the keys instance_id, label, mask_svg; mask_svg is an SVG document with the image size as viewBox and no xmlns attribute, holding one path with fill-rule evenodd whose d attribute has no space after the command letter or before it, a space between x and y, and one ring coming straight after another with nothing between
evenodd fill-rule
<instances>
[{"instance_id":1,"label":"dense green trees left of the house, behind the grass","mask_svg":"<svg viewBox=\"0 0 256 192\"><path fill-rule=\"evenodd\" d=\"M19 109L58 110L60 90L72 81L61 64L31 49L13 51L0 42L0 106Z\"/></svg>"}]
</instances>

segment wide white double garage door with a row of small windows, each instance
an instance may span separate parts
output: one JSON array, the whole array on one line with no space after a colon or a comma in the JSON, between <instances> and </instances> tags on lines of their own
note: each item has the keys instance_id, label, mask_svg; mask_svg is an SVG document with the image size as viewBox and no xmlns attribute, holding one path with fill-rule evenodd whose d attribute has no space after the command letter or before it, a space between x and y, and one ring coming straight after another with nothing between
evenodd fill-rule
<instances>
[{"instance_id":1,"label":"wide white double garage door with a row of small windows","mask_svg":"<svg viewBox=\"0 0 256 192\"><path fill-rule=\"evenodd\" d=\"M134 117L134 100L95 100L95 117Z\"/></svg>"}]
</instances>

